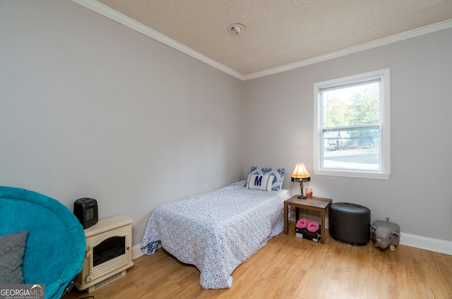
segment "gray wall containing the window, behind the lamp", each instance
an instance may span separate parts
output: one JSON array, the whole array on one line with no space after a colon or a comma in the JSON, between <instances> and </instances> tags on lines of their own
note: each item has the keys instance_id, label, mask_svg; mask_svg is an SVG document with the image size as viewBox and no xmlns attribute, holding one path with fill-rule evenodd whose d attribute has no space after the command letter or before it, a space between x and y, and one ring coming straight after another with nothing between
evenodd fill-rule
<instances>
[{"instance_id":1,"label":"gray wall containing the window, behind the lamp","mask_svg":"<svg viewBox=\"0 0 452 299\"><path fill-rule=\"evenodd\" d=\"M314 196L371 209L403 233L452 240L452 29L407 39L292 71L246 80L245 164L311 173ZM313 84L391 68L391 178L314 175ZM450 252L450 250L449 250Z\"/></svg>"}]
</instances>

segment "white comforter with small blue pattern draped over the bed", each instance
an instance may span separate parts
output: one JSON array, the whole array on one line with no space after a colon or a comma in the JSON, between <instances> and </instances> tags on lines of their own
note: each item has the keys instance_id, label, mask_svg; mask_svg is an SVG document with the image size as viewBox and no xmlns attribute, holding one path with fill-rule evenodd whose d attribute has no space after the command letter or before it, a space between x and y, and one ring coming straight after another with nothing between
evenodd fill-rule
<instances>
[{"instance_id":1,"label":"white comforter with small blue pattern draped over the bed","mask_svg":"<svg viewBox=\"0 0 452 299\"><path fill-rule=\"evenodd\" d=\"M158 207L150 215L141 250L158 241L181 262L194 264L203 288L230 288L232 271L284 229L289 190L245 188L244 181Z\"/></svg>"}]
</instances>

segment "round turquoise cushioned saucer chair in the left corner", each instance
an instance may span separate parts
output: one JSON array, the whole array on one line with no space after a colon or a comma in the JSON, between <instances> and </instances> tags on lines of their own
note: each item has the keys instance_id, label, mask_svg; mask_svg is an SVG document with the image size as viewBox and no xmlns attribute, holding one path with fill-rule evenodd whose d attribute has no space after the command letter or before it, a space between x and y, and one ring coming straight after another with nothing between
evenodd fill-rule
<instances>
[{"instance_id":1,"label":"round turquoise cushioned saucer chair in the left corner","mask_svg":"<svg viewBox=\"0 0 452 299\"><path fill-rule=\"evenodd\" d=\"M28 231L23 279L44 284L45 298L61 298L83 267L86 239L73 212L30 190L0 186L0 236Z\"/></svg>"}]
</instances>

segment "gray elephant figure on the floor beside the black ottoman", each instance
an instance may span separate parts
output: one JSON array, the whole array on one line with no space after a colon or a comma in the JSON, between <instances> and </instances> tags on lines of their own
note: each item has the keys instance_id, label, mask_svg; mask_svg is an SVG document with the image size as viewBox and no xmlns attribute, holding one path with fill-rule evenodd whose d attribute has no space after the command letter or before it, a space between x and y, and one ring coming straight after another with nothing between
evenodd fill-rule
<instances>
[{"instance_id":1,"label":"gray elephant figure on the floor beside the black ottoman","mask_svg":"<svg viewBox=\"0 0 452 299\"><path fill-rule=\"evenodd\" d=\"M372 239L375 240L375 246L389 250L396 251L395 245L400 242L400 226L386 221L376 220L371 224Z\"/></svg>"}]
</instances>

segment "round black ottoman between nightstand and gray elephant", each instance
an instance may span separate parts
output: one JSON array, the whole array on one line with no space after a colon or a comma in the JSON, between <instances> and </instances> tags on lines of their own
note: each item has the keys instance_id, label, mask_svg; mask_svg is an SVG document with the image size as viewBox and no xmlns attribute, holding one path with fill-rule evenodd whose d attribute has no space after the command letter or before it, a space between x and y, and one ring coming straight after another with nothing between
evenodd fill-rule
<instances>
[{"instance_id":1,"label":"round black ottoman between nightstand and gray elephant","mask_svg":"<svg viewBox=\"0 0 452 299\"><path fill-rule=\"evenodd\" d=\"M362 246L370 240L370 209L348 202L337 202L328 211L328 226L334 240Z\"/></svg>"}]
</instances>

